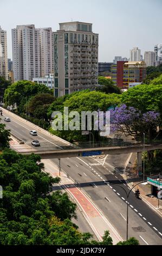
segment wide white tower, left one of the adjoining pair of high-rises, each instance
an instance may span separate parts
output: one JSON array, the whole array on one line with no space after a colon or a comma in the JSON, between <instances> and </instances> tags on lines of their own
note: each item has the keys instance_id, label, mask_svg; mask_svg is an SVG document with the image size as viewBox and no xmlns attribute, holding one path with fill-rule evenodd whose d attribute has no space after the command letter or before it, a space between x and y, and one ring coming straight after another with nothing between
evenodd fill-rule
<instances>
[{"instance_id":1,"label":"wide white tower, left one of the adjoining pair of high-rises","mask_svg":"<svg viewBox=\"0 0 162 256\"><path fill-rule=\"evenodd\" d=\"M40 37L34 25L12 29L14 80L32 80L40 76Z\"/></svg>"}]
</instances>

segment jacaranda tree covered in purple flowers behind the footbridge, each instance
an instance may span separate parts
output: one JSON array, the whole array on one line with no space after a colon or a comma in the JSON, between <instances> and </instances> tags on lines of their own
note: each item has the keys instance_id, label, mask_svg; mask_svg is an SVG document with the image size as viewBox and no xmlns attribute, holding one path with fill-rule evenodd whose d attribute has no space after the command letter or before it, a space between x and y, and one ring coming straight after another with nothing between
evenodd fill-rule
<instances>
[{"instance_id":1,"label":"jacaranda tree covered in purple flowers behind the footbridge","mask_svg":"<svg viewBox=\"0 0 162 256\"><path fill-rule=\"evenodd\" d=\"M149 141L157 133L157 126L160 125L160 114L155 111L141 113L139 109L127 107L125 104L111 109L111 130L125 134L125 136L142 137L147 135Z\"/></svg>"}]
</instances>

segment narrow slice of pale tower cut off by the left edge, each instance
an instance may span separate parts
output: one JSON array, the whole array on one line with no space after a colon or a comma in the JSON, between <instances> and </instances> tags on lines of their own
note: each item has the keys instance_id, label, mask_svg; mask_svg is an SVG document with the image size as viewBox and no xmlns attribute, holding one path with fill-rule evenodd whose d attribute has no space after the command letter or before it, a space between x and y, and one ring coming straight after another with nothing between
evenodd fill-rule
<instances>
[{"instance_id":1,"label":"narrow slice of pale tower cut off by the left edge","mask_svg":"<svg viewBox=\"0 0 162 256\"><path fill-rule=\"evenodd\" d=\"M8 80L7 32L0 26L0 76Z\"/></svg>"}]
</instances>

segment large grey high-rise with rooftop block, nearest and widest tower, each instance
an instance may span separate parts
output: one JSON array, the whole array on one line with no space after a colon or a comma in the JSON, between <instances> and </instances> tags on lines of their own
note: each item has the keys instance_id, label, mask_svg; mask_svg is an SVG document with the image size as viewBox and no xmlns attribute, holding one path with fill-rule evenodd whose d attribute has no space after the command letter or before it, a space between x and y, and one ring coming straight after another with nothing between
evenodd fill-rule
<instances>
[{"instance_id":1,"label":"large grey high-rise with rooftop block, nearest and widest tower","mask_svg":"<svg viewBox=\"0 0 162 256\"><path fill-rule=\"evenodd\" d=\"M55 96L98 85L98 45L92 23L60 23L53 32Z\"/></svg>"}]
</instances>

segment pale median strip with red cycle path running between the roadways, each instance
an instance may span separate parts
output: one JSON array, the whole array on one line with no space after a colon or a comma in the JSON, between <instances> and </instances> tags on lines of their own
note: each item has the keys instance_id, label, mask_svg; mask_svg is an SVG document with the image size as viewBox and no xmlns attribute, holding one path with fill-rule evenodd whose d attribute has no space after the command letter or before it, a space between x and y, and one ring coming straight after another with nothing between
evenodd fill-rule
<instances>
[{"instance_id":1,"label":"pale median strip with red cycle path running between the roadways","mask_svg":"<svg viewBox=\"0 0 162 256\"><path fill-rule=\"evenodd\" d=\"M59 176L59 170L57 166L50 160L42 160L45 166L46 172L51 176ZM122 237L118 234L118 231L112 226L112 224L103 216L100 209L90 200L87 194L76 187L72 179L67 178L66 174L61 172L60 185L69 193L70 197L75 200L75 203L79 207L86 221L94 231L99 241L102 241L102 236L105 230L109 230L110 236L113 239L115 245L119 241L123 241Z\"/></svg>"}]
</instances>

